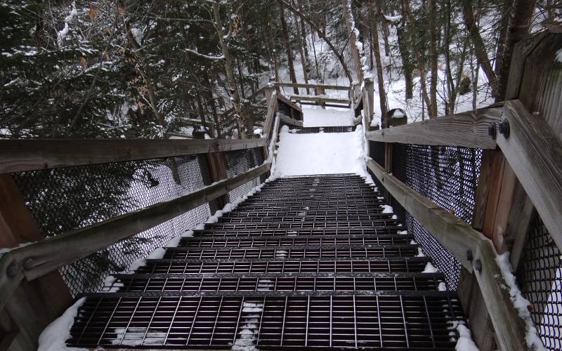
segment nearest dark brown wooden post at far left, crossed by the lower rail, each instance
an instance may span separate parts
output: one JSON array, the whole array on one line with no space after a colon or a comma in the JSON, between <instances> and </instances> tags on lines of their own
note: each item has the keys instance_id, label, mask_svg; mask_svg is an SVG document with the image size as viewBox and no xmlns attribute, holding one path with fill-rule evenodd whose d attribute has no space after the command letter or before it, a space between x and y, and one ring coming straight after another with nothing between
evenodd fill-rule
<instances>
[{"instance_id":1,"label":"nearest dark brown wooden post at far left, crossed by the lower rail","mask_svg":"<svg viewBox=\"0 0 562 351\"><path fill-rule=\"evenodd\" d=\"M37 223L25 207L11 175L0 174L0 248L13 248L27 242L41 241ZM72 297L58 272L51 272L33 282L23 281L0 312L0 345L13 350L37 350L43 329L72 304Z\"/></svg>"}]
</instances>

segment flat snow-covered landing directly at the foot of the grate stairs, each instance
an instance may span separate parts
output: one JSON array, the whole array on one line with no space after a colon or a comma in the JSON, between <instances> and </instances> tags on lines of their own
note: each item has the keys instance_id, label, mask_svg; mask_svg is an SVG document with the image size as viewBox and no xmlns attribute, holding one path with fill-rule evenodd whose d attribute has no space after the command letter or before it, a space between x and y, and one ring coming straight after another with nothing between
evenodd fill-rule
<instances>
[{"instance_id":1,"label":"flat snow-covered landing directly at the foot of the grate stairs","mask_svg":"<svg viewBox=\"0 0 562 351\"><path fill-rule=\"evenodd\" d=\"M367 177L362 126L353 133L293 134L283 126L275 176L356 173Z\"/></svg>"}]
</instances>

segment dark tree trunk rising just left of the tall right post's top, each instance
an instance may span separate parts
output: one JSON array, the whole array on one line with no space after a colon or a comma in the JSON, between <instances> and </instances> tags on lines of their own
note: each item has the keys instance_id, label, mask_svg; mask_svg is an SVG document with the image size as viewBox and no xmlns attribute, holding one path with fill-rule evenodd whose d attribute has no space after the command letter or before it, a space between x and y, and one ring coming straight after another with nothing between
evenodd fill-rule
<instances>
[{"instance_id":1,"label":"dark tree trunk rising just left of the tall right post's top","mask_svg":"<svg viewBox=\"0 0 562 351\"><path fill-rule=\"evenodd\" d=\"M496 101L504 100L514 46L518 41L525 39L529 35L529 25L532 12L535 10L535 4L536 0L514 0L513 13L509 16L509 25L507 26L507 38L504 54L502 55L502 65L497 74Z\"/></svg>"}]
</instances>

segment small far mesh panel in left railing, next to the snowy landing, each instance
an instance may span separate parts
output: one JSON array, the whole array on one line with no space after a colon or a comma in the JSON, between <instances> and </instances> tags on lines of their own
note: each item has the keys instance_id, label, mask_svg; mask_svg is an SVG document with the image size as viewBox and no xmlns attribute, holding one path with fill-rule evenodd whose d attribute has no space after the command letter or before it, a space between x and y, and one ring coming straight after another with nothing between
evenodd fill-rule
<instances>
[{"instance_id":1,"label":"small far mesh panel in left railing, next to the snowy landing","mask_svg":"<svg viewBox=\"0 0 562 351\"><path fill-rule=\"evenodd\" d=\"M228 178L237 176L247 172L250 168L254 168L263 164L263 151L261 147L254 147L253 149L235 150L225 152L226 159L226 174ZM234 201L239 197L243 197L250 192L254 187L263 183L265 179L263 176L257 177L244 185L240 185L235 190L228 193L230 201Z\"/></svg>"}]
</instances>

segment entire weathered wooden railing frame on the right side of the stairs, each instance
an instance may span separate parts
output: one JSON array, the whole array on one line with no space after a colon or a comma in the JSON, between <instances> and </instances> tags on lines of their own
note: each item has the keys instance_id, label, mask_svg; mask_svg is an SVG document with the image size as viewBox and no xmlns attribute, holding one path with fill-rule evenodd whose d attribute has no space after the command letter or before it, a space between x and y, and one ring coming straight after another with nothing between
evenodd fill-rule
<instances>
[{"instance_id":1,"label":"entire weathered wooden railing frame on the right side of the stairs","mask_svg":"<svg viewBox=\"0 0 562 351\"><path fill-rule=\"evenodd\" d=\"M530 349L526 337L535 326L521 317L528 311L514 305L497 258L511 251L511 264L518 264L533 206L562 247L562 98L555 93L562 86L562 64L553 59L561 47L562 35L551 33L518 44L505 102L379 131L368 131L365 120L367 140L384 143L384 163L367 159L367 167L393 201L461 263L459 296L481 350L493 350L494 343L500 350ZM553 74L537 77L538 67ZM353 108L372 116L367 89L351 93ZM483 150L472 224L393 176L393 144Z\"/></svg>"}]
</instances>

